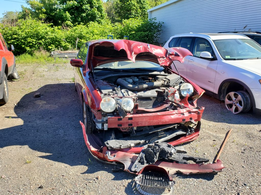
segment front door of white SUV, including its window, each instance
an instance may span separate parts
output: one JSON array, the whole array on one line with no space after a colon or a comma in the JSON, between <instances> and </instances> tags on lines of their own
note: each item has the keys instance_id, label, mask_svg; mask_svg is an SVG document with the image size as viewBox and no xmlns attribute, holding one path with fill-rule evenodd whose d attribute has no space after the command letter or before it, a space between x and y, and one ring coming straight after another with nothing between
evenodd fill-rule
<instances>
[{"instance_id":1,"label":"front door of white SUV, including its window","mask_svg":"<svg viewBox=\"0 0 261 195\"><path fill-rule=\"evenodd\" d=\"M201 58L200 53L207 51L212 59ZM217 59L210 42L196 37L192 49L193 56L188 56L187 78L203 89L213 92L215 85Z\"/></svg>"}]
</instances>

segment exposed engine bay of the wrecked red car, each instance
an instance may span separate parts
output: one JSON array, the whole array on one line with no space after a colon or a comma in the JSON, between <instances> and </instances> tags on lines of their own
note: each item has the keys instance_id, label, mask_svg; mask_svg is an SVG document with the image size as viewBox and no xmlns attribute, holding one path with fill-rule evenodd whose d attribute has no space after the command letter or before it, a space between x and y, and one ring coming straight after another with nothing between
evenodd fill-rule
<instances>
[{"instance_id":1,"label":"exposed engine bay of the wrecked red car","mask_svg":"<svg viewBox=\"0 0 261 195\"><path fill-rule=\"evenodd\" d=\"M152 109L164 102L179 103L187 94L188 101L194 106L193 86L177 74L112 76L97 80L96 84L101 97L110 96L119 101L122 98L131 98L134 104L138 104L136 108ZM133 109L128 112L133 113Z\"/></svg>"}]
</instances>

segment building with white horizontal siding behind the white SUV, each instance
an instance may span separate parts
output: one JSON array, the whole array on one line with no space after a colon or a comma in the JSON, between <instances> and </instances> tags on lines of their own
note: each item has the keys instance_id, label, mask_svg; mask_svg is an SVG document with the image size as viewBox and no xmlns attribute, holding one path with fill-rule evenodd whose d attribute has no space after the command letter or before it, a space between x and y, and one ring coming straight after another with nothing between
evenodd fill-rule
<instances>
[{"instance_id":1,"label":"building with white horizontal siding behind the white SUV","mask_svg":"<svg viewBox=\"0 0 261 195\"><path fill-rule=\"evenodd\" d=\"M148 12L149 19L164 22L162 44L181 33L261 31L261 0L170 0Z\"/></svg>"}]
</instances>

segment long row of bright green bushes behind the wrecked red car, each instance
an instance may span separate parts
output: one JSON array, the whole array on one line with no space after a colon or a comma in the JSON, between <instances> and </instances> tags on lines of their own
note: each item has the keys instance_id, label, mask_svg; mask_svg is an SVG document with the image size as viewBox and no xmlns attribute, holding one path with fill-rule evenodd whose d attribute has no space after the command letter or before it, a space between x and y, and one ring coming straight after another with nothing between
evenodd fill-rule
<instances>
[{"instance_id":1,"label":"long row of bright green bushes behind the wrecked red car","mask_svg":"<svg viewBox=\"0 0 261 195\"><path fill-rule=\"evenodd\" d=\"M112 24L109 20L101 23L90 22L88 25L76 25L68 30L54 27L36 20L19 20L16 27L0 25L0 32L9 44L15 47L14 54L35 55L40 48L46 51L77 49L89 40L107 38L113 35L122 39L129 35L130 40L157 44L162 29L162 22L130 18L122 23Z\"/></svg>"}]
</instances>

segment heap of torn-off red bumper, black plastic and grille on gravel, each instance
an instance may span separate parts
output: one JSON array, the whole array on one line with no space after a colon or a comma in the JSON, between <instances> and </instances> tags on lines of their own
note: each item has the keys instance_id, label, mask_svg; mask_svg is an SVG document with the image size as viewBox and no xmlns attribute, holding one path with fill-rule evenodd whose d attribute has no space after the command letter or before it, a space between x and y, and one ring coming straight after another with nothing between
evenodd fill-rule
<instances>
[{"instance_id":1,"label":"heap of torn-off red bumper, black plastic and grille on gravel","mask_svg":"<svg viewBox=\"0 0 261 195\"><path fill-rule=\"evenodd\" d=\"M216 173L226 168L221 160L217 160L216 163L207 163L209 159L186 155L183 147L174 147L182 142L193 140L199 132L191 133L168 143L161 142L162 138L158 138L158 136L154 142L148 143L145 135L143 135L144 140L101 141L98 134L86 134L84 124L82 122L80 124L85 144L90 153L99 161L136 174L137 190L144 195L172 194L174 192L173 177L177 173ZM200 122L197 126L200 126ZM170 134L175 134L175 132L169 131ZM168 135L166 134L166 136ZM137 138L137 136L134 137ZM158 140L160 141L157 142ZM193 163L189 164L189 161L193 161Z\"/></svg>"}]
</instances>

